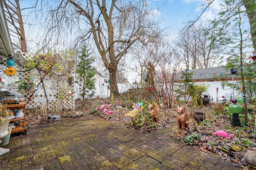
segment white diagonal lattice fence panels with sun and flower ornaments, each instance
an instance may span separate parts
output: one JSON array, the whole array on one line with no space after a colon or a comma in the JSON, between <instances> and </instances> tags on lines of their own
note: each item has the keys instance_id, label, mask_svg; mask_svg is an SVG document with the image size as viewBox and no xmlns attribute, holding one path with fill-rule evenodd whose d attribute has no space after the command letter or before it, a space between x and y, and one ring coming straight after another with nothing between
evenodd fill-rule
<instances>
[{"instance_id":1,"label":"white diagonal lattice fence panels with sun and flower ornaments","mask_svg":"<svg viewBox=\"0 0 256 170\"><path fill-rule=\"evenodd\" d=\"M28 56L31 57L32 55L18 52L16 53L16 57L12 58L14 61L16 61L16 64L12 67L16 69L16 75L13 75L12 77L4 73L4 70L8 68L6 65L6 60L8 58L0 56L0 73L2 81L5 83L4 87L2 87L0 90L18 91L18 83L15 82L25 81L26 83L30 83L32 86L30 88L28 87L28 89L24 91L18 92L22 93L22 97L26 98L26 108L34 109L36 106L46 103L48 98L48 109L50 110L54 109L53 106L55 103L60 103L61 109L74 109L74 97L68 95L69 91L74 91L74 84L69 85L68 77L66 75L46 75L43 79L43 87L43 83L40 83L40 77L44 76L44 72L42 72L40 75L36 68L26 71L26 69L21 66L22 62L26 62L24 57ZM70 73L70 75L74 75L74 70L72 72L73 73ZM34 89L37 86L38 91L34 92Z\"/></svg>"}]
</instances>

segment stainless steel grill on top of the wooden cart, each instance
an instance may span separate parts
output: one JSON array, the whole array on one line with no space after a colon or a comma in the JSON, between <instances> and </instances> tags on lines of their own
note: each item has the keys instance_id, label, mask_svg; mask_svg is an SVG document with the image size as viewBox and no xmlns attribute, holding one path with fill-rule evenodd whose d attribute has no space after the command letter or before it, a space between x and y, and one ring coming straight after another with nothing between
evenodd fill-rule
<instances>
[{"instance_id":1,"label":"stainless steel grill on top of the wooden cart","mask_svg":"<svg viewBox=\"0 0 256 170\"><path fill-rule=\"evenodd\" d=\"M16 91L0 91L0 100L4 104L19 104L21 94Z\"/></svg>"}]
</instances>

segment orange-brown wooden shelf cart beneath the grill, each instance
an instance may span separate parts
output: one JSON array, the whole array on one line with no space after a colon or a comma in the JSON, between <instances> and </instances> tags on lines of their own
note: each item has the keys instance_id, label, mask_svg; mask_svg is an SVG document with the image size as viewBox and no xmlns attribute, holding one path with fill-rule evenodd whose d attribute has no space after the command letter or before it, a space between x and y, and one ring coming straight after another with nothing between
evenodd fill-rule
<instances>
[{"instance_id":1,"label":"orange-brown wooden shelf cart beneath the grill","mask_svg":"<svg viewBox=\"0 0 256 170\"><path fill-rule=\"evenodd\" d=\"M27 128L26 128L26 102L25 101L20 101L19 104L10 104L10 105L6 105L6 107L9 110L23 109L24 117L18 117L18 118L11 119L10 122L23 120L22 123L20 123L18 126L16 126L15 128L12 129L12 133L25 131L25 134L26 134L27 133Z\"/></svg>"}]
</instances>

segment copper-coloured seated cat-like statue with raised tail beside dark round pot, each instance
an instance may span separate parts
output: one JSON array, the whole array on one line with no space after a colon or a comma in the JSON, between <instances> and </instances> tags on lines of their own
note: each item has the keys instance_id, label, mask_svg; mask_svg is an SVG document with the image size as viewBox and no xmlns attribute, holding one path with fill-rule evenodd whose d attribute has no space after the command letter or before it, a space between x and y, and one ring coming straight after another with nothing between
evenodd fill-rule
<instances>
[{"instance_id":1,"label":"copper-coloured seated cat-like statue with raised tail beside dark round pot","mask_svg":"<svg viewBox=\"0 0 256 170\"><path fill-rule=\"evenodd\" d=\"M189 121L189 112L185 103L183 104L183 107L177 108L177 113L178 130L181 129L181 131L184 132L184 128L188 128Z\"/></svg>"}]
</instances>

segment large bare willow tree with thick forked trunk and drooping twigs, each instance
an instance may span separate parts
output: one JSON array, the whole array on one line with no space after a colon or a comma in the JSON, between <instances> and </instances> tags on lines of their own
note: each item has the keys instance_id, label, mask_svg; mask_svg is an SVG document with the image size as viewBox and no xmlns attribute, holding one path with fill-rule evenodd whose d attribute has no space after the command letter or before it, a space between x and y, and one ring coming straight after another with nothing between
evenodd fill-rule
<instances>
[{"instance_id":1,"label":"large bare willow tree with thick forked trunk and drooping twigs","mask_svg":"<svg viewBox=\"0 0 256 170\"><path fill-rule=\"evenodd\" d=\"M115 73L120 59L137 42L147 45L161 33L146 0L112 0L108 4L106 0L62 0L56 6L48 16L52 19L47 35L57 36L55 39L63 41L59 35L70 30L77 46L93 40L108 69L110 91L114 95L118 94ZM50 41L48 38L46 42Z\"/></svg>"}]
</instances>

